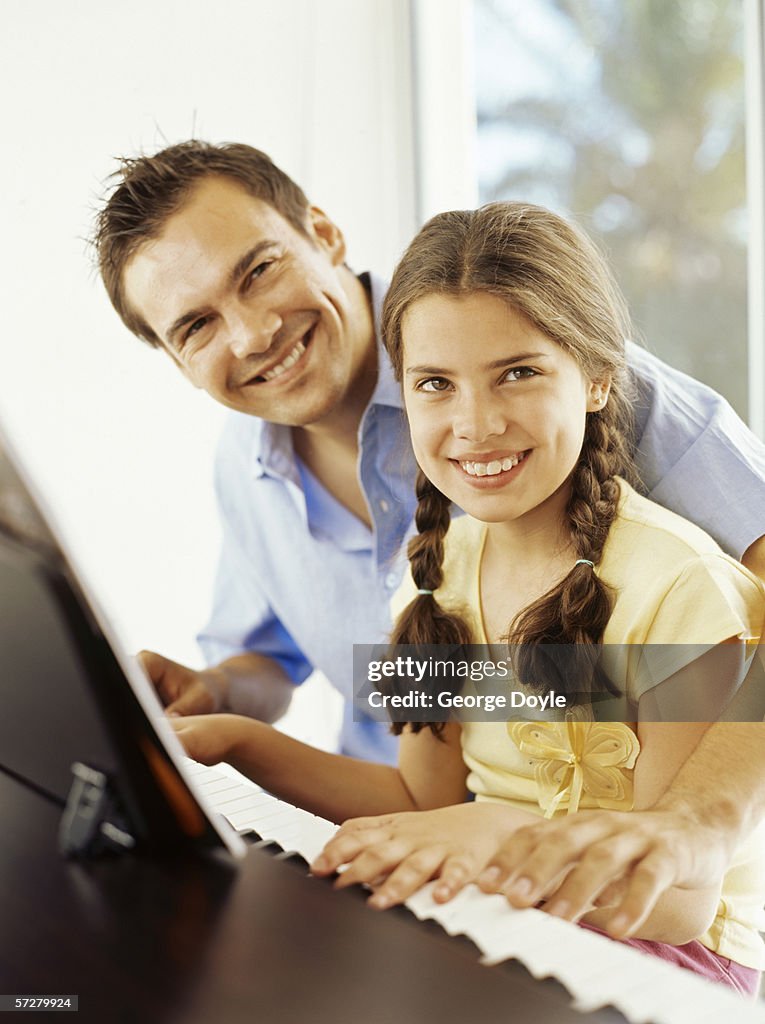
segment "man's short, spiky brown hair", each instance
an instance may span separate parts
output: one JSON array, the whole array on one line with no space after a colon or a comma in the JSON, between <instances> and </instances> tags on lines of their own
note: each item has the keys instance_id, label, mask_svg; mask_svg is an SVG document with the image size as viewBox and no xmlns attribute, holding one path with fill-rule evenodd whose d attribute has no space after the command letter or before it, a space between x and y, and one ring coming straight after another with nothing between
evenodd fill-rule
<instances>
[{"instance_id":1,"label":"man's short, spiky brown hair","mask_svg":"<svg viewBox=\"0 0 765 1024\"><path fill-rule=\"evenodd\" d=\"M112 305L133 334L155 347L161 345L159 338L125 297L125 266L140 245L162 232L194 185L212 176L238 181L306 233L308 201L303 190L266 154L251 145L213 145L189 139L153 157L120 160L120 169L113 175L117 179L114 188L96 218L93 245Z\"/></svg>"}]
</instances>

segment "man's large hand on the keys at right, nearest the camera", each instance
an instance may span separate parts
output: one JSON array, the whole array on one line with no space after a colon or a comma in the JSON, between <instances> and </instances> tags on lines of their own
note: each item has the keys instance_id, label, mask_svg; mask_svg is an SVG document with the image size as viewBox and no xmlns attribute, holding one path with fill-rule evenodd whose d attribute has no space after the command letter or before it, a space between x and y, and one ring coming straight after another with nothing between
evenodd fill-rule
<instances>
[{"instance_id":1,"label":"man's large hand on the keys at right, nearest the camera","mask_svg":"<svg viewBox=\"0 0 765 1024\"><path fill-rule=\"evenodd\" d=\"M514 906L534 906L577 921L593 905L617 938L636 932L672 886L719 886L731 837L690 812L581 811L518 829L478 879Z\"/></svg>"}]
</instances>

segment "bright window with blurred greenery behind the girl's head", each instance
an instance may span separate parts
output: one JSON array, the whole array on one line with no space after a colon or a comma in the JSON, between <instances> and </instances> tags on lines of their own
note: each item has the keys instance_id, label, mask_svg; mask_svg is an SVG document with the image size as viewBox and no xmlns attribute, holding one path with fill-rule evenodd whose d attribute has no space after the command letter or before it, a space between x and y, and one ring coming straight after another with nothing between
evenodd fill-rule
<instances>
[{"instance_id":1,"label":"bright window with blurred greenery behind the girl's head","mask_svg":"<svg viewBox=\"0 0 765 1024\"><path fill-rule=\"evenodd\" d=\"M747 417L745 6L474 0L482 203L576 217L637 335Z\"/></svg>"}]
</instances>

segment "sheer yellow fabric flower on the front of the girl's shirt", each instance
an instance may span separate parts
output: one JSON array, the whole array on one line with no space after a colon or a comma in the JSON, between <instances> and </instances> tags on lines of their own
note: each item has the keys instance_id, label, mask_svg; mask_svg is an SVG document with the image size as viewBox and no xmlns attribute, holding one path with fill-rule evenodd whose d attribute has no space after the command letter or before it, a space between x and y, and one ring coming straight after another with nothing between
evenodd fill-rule
<instances>
[{"instance_id":1,"label":"sheer yellow fabric flower on the front of the girl's shirt","mask_svg":"<svg viewBox=\"0 0 765 1024\"><path fill-rule=\"evenodd\" d=\"M640 743L621 722L508 722L521 753L534 759L539 804L546 818L579 810L582 794L599 807L632 808L632 773Z\"/></svg>"}]
</instances>

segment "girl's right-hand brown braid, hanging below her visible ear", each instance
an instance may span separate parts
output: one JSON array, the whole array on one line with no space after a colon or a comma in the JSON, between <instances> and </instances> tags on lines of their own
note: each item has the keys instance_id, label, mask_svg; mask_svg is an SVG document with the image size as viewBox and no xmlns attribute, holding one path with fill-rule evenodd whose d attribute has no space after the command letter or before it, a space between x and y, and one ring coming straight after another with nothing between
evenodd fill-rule
<instances>
[{"instance_id":1,"label":"girl's right-hand brown braid, hanging below her visible ear","mask_svg":"<svg viewBox=\"0 0 765 1024\"><path fill-rule=\"evenodd\" d=\"M617 517L618 473L629 472L622 432L608 407L587 418L582 453L571 477L566 518L579 558L596 565ZM553 590L515 618L510 639L517 643L515 669L521 682L555 686L573 702L587 702L593 691L615 693L597 668L598 647L611 613L612 596L589 565L578 564ZM542 645L565 644L556 665ZM572 646L568 646L572 645Z\"/></svg>"}]
</instances>

